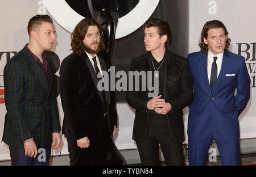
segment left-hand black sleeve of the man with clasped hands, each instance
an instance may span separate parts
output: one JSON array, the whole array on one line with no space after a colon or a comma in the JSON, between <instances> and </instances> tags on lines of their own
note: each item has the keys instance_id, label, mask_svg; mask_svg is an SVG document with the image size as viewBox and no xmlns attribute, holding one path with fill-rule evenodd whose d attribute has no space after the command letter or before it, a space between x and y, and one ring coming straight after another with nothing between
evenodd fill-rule
<instances>
[{"instance_id":1,"label":"left-hand black sleeve of the man with clasped hands","mask_svg":"<svg viewBox=\"0 0 256 177\"><path fill-rule=\"evenodd\" d=\"M136 71L136 66L134 60L131 61L130 71ZM129 75L129 74L128 74ZM136 110L146 111L147 110L147 98L141 98L139 96L139 91L135 91L134 79L133 79L133 90L129 90L129 82L131 79L127 77L127 91L126 91L126 101L127 103Z\"/></svg>"}]
</instances>

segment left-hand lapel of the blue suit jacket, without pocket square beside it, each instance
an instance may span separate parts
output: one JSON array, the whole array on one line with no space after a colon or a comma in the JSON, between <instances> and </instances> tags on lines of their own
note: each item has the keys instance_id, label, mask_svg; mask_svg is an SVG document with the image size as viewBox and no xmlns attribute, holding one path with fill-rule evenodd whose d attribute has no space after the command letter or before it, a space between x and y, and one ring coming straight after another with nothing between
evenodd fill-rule
<instances>
[{"instance_id":1,"label":"left-hand lapel of the blue suit jacket, without pocket square beside it","mask_svg":"<svg viewBox=\"0 0 256 177\"><path fill-rule=\"evenodd\" d=\"M209 92L212 92L210 89L210 84L208 79L207 58L208 58L208 53L202 52L200 56L200 68L201 68L201 74L202 74L203 80L205 82L205 87L207 87Z\"/></svg>"}]
</instances>

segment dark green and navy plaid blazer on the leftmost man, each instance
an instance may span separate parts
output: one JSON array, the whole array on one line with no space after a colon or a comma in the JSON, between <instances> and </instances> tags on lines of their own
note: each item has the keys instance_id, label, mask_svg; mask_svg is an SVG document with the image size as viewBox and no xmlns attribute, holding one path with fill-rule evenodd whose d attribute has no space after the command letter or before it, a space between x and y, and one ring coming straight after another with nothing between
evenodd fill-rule
<instances>
[{"instance_id":1,"label":"dark green and navy plaid blazer on the leftmost man","mask_svg":"<svg viewBox=\"0 0 256 177\"><path fill-rule=\"evenodd\" d=\"M46 57L51 83L25 46L3 71L5 83L5 128L3 139L7 145L24 148L23 141L34 138L38 148L51 146L52 132L60 130L55 94L54 66Z\"/></svg>"}]
</instances>

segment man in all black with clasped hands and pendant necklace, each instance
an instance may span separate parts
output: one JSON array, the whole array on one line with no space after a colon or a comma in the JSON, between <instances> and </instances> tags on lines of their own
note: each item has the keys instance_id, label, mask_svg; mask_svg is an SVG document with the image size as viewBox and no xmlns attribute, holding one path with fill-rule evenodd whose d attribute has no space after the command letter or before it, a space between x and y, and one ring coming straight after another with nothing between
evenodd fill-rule
<instances>
[{"instance_id":1,"label":"man in all black with clasped hands and pendant necklace","mask_svg":"<svg viewBox=\"0 0 256 177\"><path fill-rule=\"evenodd\" d=\"M193 100L192 78L187 58L166 48L170 36L167 22L149 19L144 24L147 53L131 61L131 71L152 71L152 78L159 79L159 94L153 98L149 89L126 92L127 103L136 109L133 140L142 165L159 165L159 144L167 165L184 164L182 109Z\"/></svg>"}]
</instances>

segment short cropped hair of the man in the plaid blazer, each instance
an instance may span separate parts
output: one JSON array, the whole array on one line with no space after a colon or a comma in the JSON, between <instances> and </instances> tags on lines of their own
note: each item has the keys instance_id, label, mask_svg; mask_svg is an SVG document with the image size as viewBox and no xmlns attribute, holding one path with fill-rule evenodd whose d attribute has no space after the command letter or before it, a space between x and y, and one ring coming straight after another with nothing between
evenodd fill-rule
<instances>
[{"instance_id":1,"label":"short cropped hair of the man in the plaid blazer","mask_svg":"<svg viewBox=\"0 0 256 177\"><path fill-rule=\"evenodd\" d=\"M40 26L42 22L49 22L53 23L51 17L49 15L35 15L33 16L27 25L27 32L30 36L30 32L35 29L36 27Z\"/></svg>"}]
</instances>

